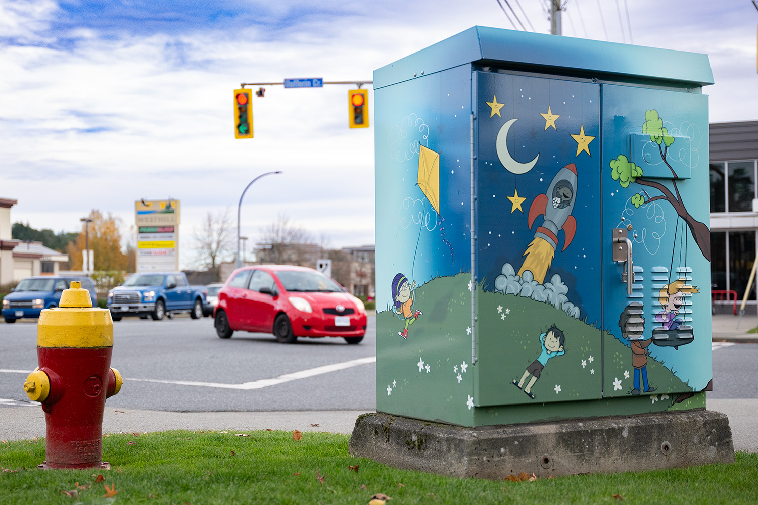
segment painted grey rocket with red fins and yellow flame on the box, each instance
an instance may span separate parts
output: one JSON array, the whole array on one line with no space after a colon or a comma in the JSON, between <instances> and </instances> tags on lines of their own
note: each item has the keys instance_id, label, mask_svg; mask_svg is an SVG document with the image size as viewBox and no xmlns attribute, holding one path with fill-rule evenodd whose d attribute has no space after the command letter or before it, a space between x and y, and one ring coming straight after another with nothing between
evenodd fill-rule
<instances>
[{"instance_id":1,"label":"painted grey rocket with red fins and yellow flame on the box","mask_svg":"<svg viewBox=\"0 0 758 505\"><path fill-rule=\"evenodd\" d=\"M542 284L547 269L553 263L558 248L558 232L563 230L564 242L561 251L571 244L576 232L576 220L572 216L576 201L577 174L575 164L568 164L556 173L547 192L537 195L529 207L529 229L538 216L543 216L541 226L537 226L534 240L526 249L525 260L518 275L526 270L534 275L534 280Z\"/></svg>"}]
</instances>

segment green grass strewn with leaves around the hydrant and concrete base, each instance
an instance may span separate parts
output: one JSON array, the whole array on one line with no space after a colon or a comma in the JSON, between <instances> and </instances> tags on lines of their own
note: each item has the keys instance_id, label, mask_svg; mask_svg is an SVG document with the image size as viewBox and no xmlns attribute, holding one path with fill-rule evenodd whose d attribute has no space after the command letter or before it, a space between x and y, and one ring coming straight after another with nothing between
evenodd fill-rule
<instances>
[{"instance_id":1,"label":"green grass strewn with leaves around the hydrant and concrete base","mask_svg":"<svg viewBox=\"0 0 758 505\"><path fill-rule=\"evenodd\" d=\"M39 470L36 465L45 458L42 439L2 441L0 503L365 505L377 493L392 497L390 505L758 503L756 454L738 453L731 465L493 482L393 469L349 457L347 435L303 433L300 441L292 435L278 431L107 435L103 454L110 470ZM114 497L105 497L105 485L115 491Z\"/></svg>"}]
</instances>

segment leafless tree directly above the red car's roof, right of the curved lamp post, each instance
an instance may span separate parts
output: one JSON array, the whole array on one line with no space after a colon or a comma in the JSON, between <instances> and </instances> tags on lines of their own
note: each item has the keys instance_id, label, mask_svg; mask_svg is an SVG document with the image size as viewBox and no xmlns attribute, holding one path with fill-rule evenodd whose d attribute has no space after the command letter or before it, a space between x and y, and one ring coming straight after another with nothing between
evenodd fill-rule
<instances>
[{"instance_id":1,"label":"leafless tree directly above the red car's roof, right of the curved lamp post","mask_svg":"<svg viewBox=\"0 0 758 505\"><path fill-rule=\"evenodd\" d=\"M321 247L314 242L311 232L296 226L287 214L260 230L258 260L265 263L282 263L315 266Z\"/></svg>"}]
</instances>

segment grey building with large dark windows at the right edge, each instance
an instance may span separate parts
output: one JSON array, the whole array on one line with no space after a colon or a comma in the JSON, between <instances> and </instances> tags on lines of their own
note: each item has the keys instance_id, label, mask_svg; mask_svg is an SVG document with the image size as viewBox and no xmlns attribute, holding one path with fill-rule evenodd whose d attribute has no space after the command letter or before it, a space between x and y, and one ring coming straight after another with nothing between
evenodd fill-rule
<instances>
[{"instance_id":1,"label":"grey building with large dark windows at the right edge","mask_svg":"<svg viewBox=\"0 0 758 505\"><path fill-rule=\"evenodd\" d=\"M711 288L741 300L758 251L758 121L711 123L709 133ZM754 289L748 300L754 311Z\"/></svg>"}]
</instances>

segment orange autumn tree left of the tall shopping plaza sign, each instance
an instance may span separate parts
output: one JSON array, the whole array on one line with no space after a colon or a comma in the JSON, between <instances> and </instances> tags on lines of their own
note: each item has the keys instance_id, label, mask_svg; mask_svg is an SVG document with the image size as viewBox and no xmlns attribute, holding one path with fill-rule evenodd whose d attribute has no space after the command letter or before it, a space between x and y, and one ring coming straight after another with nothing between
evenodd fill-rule
<instances>
[{"instance_id":1,"label":"orange autumn tree left of the tall shopping plaza sign","mask_svg":"<svg viewBox=\"0 0 758 505\"><path fill-rule=\"evenodd\" d=\"M127 270L129 257L121 251L121 219L108 214L104 216L99 210L92 209L89 213L89 248L95 255L94 270ZM86 237L82 230L74 242L66 247L71 270L82 270Z\"/></svg>"}]
</instances>

